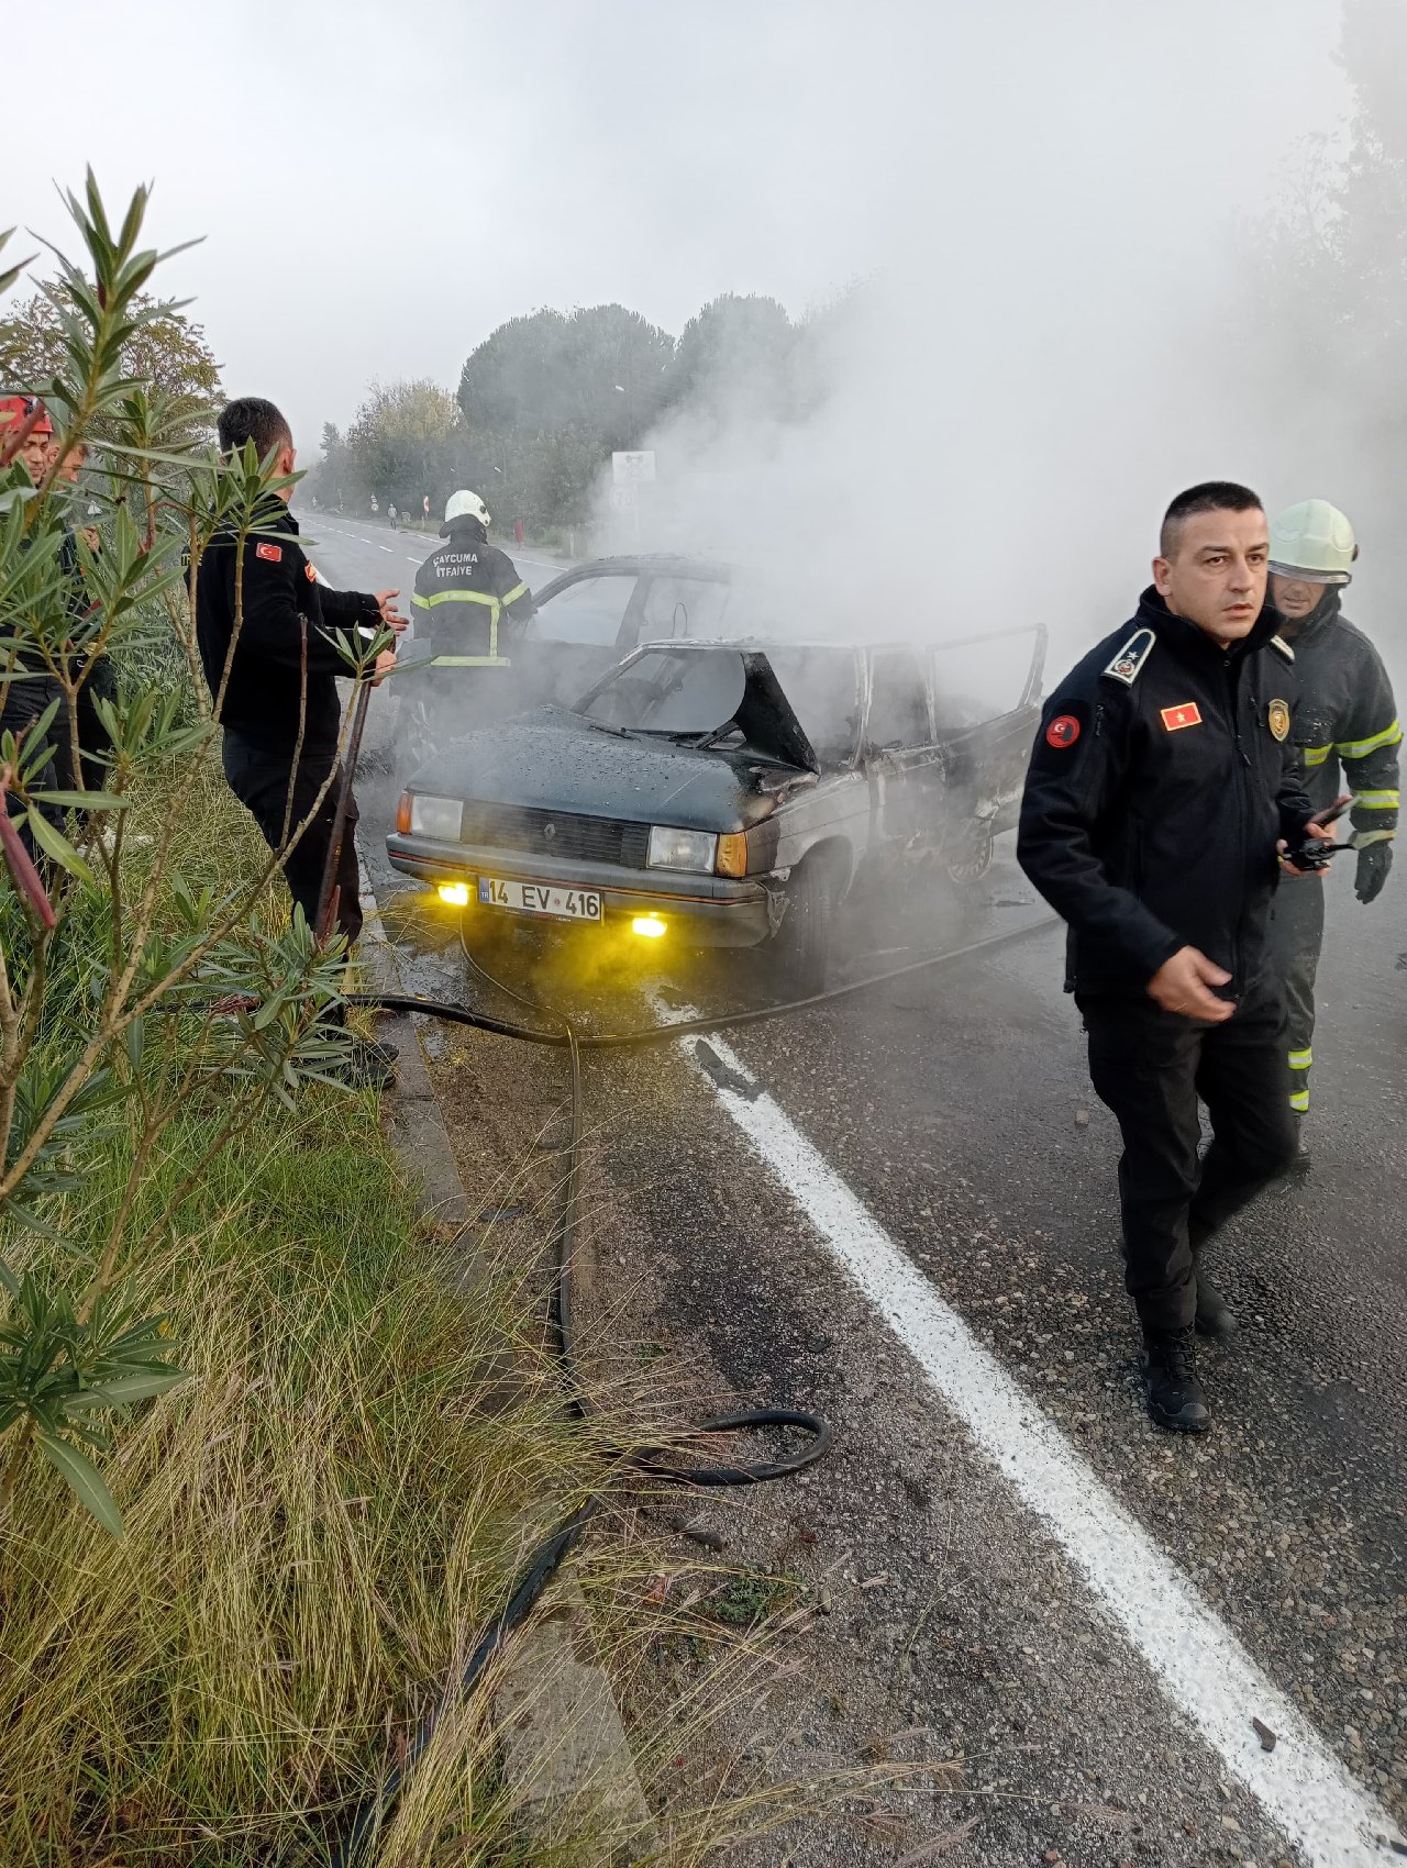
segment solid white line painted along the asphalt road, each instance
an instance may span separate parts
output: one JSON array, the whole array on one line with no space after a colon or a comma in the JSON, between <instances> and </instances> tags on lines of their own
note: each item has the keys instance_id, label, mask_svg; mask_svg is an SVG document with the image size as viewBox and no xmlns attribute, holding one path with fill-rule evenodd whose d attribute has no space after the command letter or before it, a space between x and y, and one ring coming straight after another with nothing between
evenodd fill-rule
<instances>
[{"instance_id":1,"label":"solid white line painted along the asphalt road","mask_svg":"<svg viewBox=\"0 0 1407 1868\"><path fill-rule=\"evenodd\" d=\"M695 1018L656 1005L660 1016ZM723 1063L747 1065L718 1037ZM1173 1705L1226 1760L1314 1868L1362 1868L1390 1853L1396 1823L1329 1750L1183 1571L1114 1498L1074 1446L1007 1375L957 1311L856 1199L783 1110L718 1087L742 1134L807 1216L831 1257L869 1298L932 1386L966 1422L1022 1502L1063 1545L1104 1610L1144 1655ZM1252 1717L1278 1734L1261 1750Z\"/></svg>"}]
</instances>

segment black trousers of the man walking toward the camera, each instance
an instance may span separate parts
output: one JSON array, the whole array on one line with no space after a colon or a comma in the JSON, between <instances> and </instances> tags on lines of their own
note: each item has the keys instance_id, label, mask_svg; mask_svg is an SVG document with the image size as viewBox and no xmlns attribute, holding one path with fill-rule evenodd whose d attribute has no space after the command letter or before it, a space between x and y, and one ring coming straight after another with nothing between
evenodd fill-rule
<instances>
[{"instance_id":1,"label":"black trousers of the man walking toward the camera","mask_svg":"<svg viewBox=\"0 0 1407 1868\"><path fill-rule=\"evenodd\" d=\"M1295 1156L1286 1102L1286 1007L1265 971L1220 1026L1153 999L1078 999L1095 1095L1119 1123L1125 1281L1147 1332L1181 1330L1211 1235ZM1198 1160L1201 1117L1213 1141Z\"/></svg>"}]
</instances>

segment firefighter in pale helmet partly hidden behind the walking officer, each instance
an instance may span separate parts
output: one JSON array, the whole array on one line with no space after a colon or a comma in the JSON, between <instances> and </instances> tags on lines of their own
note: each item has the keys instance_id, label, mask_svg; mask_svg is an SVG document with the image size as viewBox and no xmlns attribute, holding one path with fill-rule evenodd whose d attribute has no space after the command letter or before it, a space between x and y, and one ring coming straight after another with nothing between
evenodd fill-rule
<instances>
[{"instance_id":1,"label":"firefighter in pale helmet partly hidden behind the walking officer","mask_svg":"<svg viewBox=\"0 0 1407 1868\"><path fill-rule=\"evenodd\" d=\"M1293 730L1304 788L1315 807L1332 803L1342 762L1343 785L1353 792L1355 893L1360 902L1373 902L1392 867L1401 727L1383 658L1340 611L1340 592L1353 581L1357 557L1353 527L1325 499L1289 506L1271 527L1271 601L1280 611L1280 635L1295 652ZM1321 878L1287 878L1274 899L1271 947L1289 1001L1289 1106L1299 1117L1299 1169L1310 1166L1302 1119L1310 1110L1314 975L1323 938Z\"/></svg>"}]
</instances>

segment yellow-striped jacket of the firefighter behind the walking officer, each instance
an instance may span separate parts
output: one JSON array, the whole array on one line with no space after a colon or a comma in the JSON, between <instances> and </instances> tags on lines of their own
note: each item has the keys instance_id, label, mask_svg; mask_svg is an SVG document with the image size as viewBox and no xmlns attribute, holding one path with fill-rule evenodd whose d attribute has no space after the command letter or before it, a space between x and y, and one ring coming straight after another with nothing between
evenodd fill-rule
<instances>
[{"instance_id":1,"label":"yellow-striped jacket of the firefighter behind the walking officer","mask_svg":"<svg viewBox=\"0 0 1407 1868\"><path fill-rule=\"evenodd\" d=\"M1329 590L1291 639L1293 738L1314 809L1323 811L1342 792L1353 792L1353 828L1377 841L1398 828L1401 727L1383 658L1362 630L1340 615L1338 603L1338 590Z\"/></svg>"}]
</instances>

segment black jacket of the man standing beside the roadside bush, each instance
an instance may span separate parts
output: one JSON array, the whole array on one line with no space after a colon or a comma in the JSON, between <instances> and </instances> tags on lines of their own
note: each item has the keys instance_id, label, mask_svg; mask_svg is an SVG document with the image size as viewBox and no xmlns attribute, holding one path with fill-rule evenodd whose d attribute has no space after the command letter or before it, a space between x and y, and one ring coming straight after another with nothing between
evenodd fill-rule
<instances>
[{"instance_id":1,"label":"black jacket of the man standing beside the roadside bush","mask_svg":"<svg viewBox=\"0 0 1407 1868\"><path fill-rule=\"evenodd\" d=\"M230 732L284 758L293 757L303 712L303 644L308 652L308 695L303 757L336 751L340 708L336 678L349 672L331 631L349 635L364 652L381 618L376 598L329 590L316 581L297 542L297 519L280 502L262 521L265 536L245 540L243 622L235 643L220 721ZM196 581L196 641L211 697L219 695L235 626L234 538L213 538Z\"/></svg>"}]
</instances>

